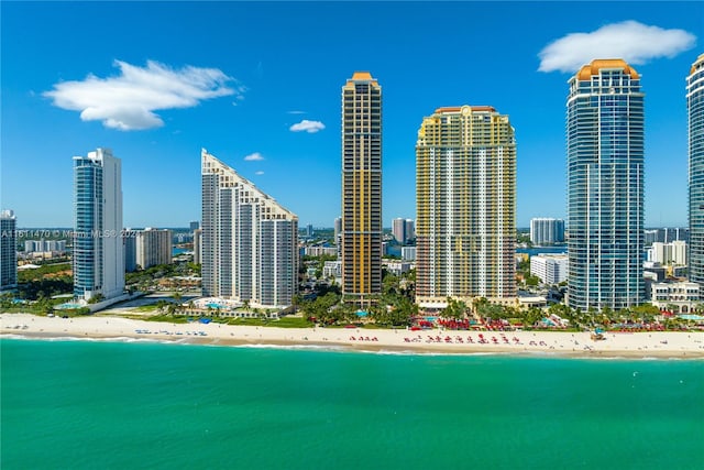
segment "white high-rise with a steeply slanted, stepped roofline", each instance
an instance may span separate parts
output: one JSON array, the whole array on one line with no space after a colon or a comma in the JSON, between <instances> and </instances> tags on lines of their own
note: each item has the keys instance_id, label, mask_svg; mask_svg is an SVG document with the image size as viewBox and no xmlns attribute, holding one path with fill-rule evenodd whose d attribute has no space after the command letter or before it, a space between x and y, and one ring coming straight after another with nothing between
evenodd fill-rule
<instances>
[{"instance_id":1,"label":"white high-rise with a steeply slanted, stepped roofline","mask_svg":"<svg viewBox=\"0 0 704 470\"><path fill-rule=\"evenodd\" d=\"M202 294L283 307L298 286L298 217L205 149Z\"/></svg>"}]
</instances>

